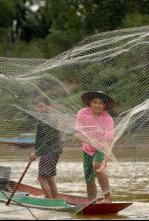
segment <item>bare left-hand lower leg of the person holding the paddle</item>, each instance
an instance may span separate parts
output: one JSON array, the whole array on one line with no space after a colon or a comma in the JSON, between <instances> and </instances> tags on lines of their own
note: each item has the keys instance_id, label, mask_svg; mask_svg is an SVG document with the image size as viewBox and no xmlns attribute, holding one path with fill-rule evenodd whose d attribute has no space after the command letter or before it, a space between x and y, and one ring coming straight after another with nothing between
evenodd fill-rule
<instances>
[{"instance_id":1,"label":"bare left-hand lower leg of the person holding the paddle","mask_svg":"<svg viewBox=\"0 0 149 221\"><path fill-rule=\"evenodd\" d=\"M49 182L47 180L47 177L46 176L39 176L38 180L39 180L41 188L45 194L45 198L53 199L52 190L49 186Z\"/></svg>"}]
</instances>

